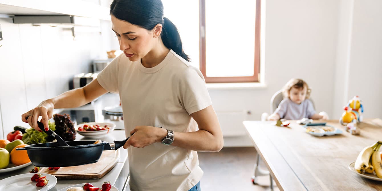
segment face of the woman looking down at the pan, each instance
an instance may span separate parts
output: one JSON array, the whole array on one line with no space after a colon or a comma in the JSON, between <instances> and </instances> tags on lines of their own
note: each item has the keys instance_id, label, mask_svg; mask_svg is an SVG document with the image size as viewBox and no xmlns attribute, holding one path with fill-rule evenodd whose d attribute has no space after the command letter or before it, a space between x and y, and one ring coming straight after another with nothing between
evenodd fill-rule
<instances>
[{"instance_id":1,"label":"face of the woman looking down at the pan","mask_svg":"<svg viewBox=\"0 0 382 191\"><path fill-rule=\"evenodd\" d=\"M130 61L138 61L154 47L154 33L139 26L117 19L112 15L112 30L118 38L120 50Z\"/></svg>"}]
</instances>

